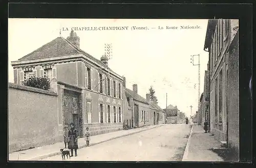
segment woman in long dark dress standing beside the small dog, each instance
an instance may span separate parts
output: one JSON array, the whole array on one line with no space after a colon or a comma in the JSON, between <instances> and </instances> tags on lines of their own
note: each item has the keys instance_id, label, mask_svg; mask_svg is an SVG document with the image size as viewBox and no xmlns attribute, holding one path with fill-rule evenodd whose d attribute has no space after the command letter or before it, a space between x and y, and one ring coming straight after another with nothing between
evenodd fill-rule
<instances>
[{"instance_id":1,"label":"woman in long dark dress standing beside the small dog","mask_svg":"<svg viewBox=\"0 0 256 168\"><path fill-rule=\"evenodd\" d=\"M71 149L71 157L73 156L73 150L75 150L75 156L77 156L77 149L78 149L77 136L78 136L77 129L75 128L75 125L71 123L70 129L69 129L69 143L68 143L69 149Z\"/></svg>"}]
</instances>

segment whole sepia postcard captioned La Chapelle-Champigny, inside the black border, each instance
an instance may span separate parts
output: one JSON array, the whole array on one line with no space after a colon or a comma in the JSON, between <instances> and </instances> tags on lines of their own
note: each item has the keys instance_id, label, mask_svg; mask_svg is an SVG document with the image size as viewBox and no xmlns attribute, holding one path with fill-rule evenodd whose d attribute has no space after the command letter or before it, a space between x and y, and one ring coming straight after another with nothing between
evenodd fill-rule
<instances>
[{"instance_id":1,"label":"whole sepia postcard captioned La Chapelle-Champigny, inside the black border","mask_svg":"<svg viewBox=\"0 0 256 168\"><path fill-rule=\"evenodd\" d=\"M239 20L8 19L8 159L239 161Z\"/></svg>"}]
</instances>

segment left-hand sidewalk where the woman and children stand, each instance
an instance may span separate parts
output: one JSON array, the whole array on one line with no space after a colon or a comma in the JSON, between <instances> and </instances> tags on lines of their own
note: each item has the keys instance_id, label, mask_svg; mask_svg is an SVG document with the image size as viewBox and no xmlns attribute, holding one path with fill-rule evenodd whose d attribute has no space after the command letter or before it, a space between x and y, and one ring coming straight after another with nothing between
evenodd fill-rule
<instances>
[{"instance_id":1,"label":"left-hand sidewalk where the woman and children stand","mask_svg":"<svg viewBox=\"0 0 256 168\"><path fill-rule=\"evenodd\" d=\"M150 126L144 126L144 127L139 127L135 129L121 130L121 131L115 131L115 132L91 136L90 147L103 142L111 141L112 139L120 138L127 135L132 135L145 130L151 130L153 128L161 127L164 125L165 124L150 125ZM64 143L60 142L60 143L41 146L38 148L28 149L24 151L13 152L13 153L9 153L8 159L9 160L40 160L40 159L44 159L54 155L58 155L60 153L59 150L63 147L64 147ZM84 147L86 147L86 141L84 141L83 137L79 138L78 148L80 149Z\"/></svg>"}]
</instances>

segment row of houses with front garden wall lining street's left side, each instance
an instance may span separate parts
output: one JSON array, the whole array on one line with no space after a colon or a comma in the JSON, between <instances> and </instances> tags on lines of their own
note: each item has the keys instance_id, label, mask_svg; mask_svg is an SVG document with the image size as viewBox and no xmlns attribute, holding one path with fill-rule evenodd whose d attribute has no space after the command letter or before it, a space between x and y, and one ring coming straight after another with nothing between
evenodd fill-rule
<instances>
[{"instance_id":1,"label":"row of houses with front garden wall lining street's left side","mask_svg":"<svg viewBox=\"0 0 256 168\"><path fill-rule=\"evenodd\" d=\"M125 86L125 77L80 49L71 31L13 61L9 83L9 152L62 141L65 126L74 123L79 137L86 127L92 135L165 123L165 112L143 98L138 86ZM50 91L23 86L30 75L48 76Z\"/></svg>"}]
</instances>

